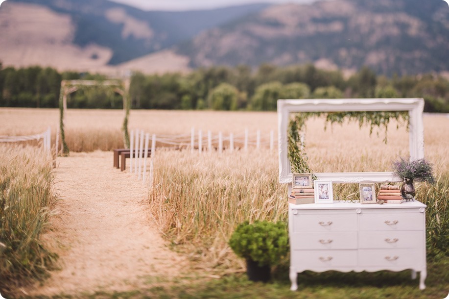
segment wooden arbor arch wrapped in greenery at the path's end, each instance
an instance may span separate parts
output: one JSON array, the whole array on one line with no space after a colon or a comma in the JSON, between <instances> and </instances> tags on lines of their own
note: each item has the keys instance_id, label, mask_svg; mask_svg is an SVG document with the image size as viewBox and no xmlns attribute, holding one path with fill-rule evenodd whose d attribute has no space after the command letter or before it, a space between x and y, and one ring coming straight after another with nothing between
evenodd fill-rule
<instances>
[{"instance_id":1,"label":"wooden arbor arch wrapped in greenery at the path's end","mask_svg":"<svg viewBox=\"0 0 449 299\"><path fill-rule=\"evenodd\" d=\"M123 144L125 148L129 148L128 134L128 117L131 107L130 97L128 96L129 82L120 80L62 80L61 91L59 94L59 127L61 130L61 140L63 145L63 154L69 155L69 147L67 146L64 134L64 114L67 111L67 96L75 91L85 87L106 87L118 93L123 98L124 119L122 125Z\"/></svg>"}]
</instances>

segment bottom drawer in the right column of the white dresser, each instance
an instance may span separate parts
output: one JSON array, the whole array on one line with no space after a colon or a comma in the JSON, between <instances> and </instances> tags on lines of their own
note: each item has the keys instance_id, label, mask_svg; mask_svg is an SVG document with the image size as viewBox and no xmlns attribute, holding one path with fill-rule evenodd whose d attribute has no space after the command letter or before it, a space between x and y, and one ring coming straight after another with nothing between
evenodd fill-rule
<instances>
[{"instance_id":1,"label":"bottom drawer in the right column of the white dresser","mask_svg":"<svg viewBox=\"0 0 449 299\"><path fill-rule=\"evenodd\" d=\"M360 267L420 267L423 264L420 249L359 249Z\"/></svg>"}]
</instances>

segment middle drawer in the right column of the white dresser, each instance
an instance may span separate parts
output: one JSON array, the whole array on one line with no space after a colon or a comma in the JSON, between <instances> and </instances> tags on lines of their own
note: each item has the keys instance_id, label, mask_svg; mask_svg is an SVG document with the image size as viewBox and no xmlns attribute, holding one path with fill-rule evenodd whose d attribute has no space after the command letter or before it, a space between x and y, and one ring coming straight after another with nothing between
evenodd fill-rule
<instances>
[{"instance_id":1,"label":"middle drawer in the right column of the white dresser","mask_svg":"<svg viewBox=\"0 0 449 299\"><path fill-rule=\"evenodd\" d=\"M363 231L358 236L360 249L421 248L423 231Z\"/></svg>"}]
</instances>

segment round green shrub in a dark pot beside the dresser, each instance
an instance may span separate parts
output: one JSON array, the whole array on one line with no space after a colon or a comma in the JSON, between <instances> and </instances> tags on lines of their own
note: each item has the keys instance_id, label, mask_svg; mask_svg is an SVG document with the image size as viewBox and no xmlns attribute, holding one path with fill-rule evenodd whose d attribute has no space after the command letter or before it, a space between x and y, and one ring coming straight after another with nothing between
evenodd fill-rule
<instances>
[{"instance_id":1,"label":"round green shrub in a dark pot beside the dresser","mask_svg":"<svg viewBox=\"0 0 449 299\"><path fill-rule=\"evenodd\" d=\"M271 266L278 264L289 249L288 232L283 222L244 222L236 227L229 240L234 252L246 259L248 278L266 282Z\"/></svg>"}]
</instances>

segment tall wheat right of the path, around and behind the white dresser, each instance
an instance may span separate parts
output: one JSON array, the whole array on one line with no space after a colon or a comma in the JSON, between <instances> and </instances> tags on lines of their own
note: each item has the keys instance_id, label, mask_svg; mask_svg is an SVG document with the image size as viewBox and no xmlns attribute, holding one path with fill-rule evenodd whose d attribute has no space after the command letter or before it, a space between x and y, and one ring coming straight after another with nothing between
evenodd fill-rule
<instances>
[{"instance_id":1,"label":"tall wheat right of the path, around and behind the white dresser","mask_svg":"<svg viewBox=\"0 0 449 299\"><path fill-rule=\"evenodd\" d=\"M383 131L370 137L368 127L344 124L325 131L324 125L322 119L307 123L306 149L315 172L392 171L392 162L408 153L408 133L394 123L386 145ZM425 126L426 158L434 165L437 184L416 183L416 188L417 199L429 207L427 242L429 252L436 254L448 245L449 119L426 117ZM168 239L202 269L219 274L244 269L243 260L227 245L237 224L287 221L287 188L278 180L277 150L160 150L154 161L148 197L153 215ZM358 192L358 184L334 185L334 198L358 199Z\"/></svg>"}]
</instances>

